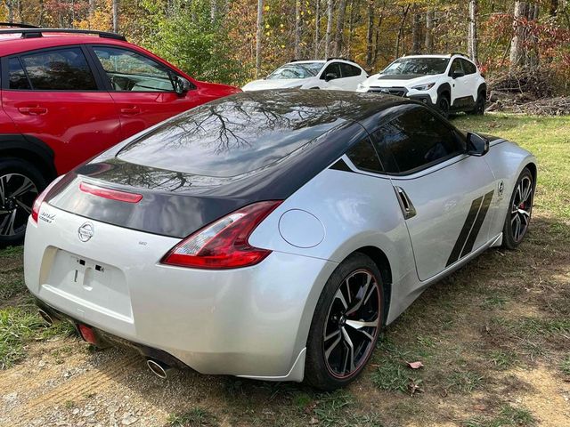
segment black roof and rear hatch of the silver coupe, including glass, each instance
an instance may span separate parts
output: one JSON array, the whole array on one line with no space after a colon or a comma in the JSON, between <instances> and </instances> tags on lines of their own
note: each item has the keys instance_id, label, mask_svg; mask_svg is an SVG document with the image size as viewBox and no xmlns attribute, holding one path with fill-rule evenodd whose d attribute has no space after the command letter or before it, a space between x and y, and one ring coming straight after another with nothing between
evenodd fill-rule
<instances>
[{"instance_id":1,"label":"black roof and rear hatch of the silver coupe, including glass","mask_svg":"<svg viewBox=\"0 0 570 427\"><path fill-rule=\"evenodd\" d=\"M69 173L46 201L97 221L182 238L244 205L289 197L367 138L369 122L412 102L321 90L238 93L118 144ZM142 200L95 200L77 186L57 196L77 176L134 190Z\"/></svg>"}]
</instances>

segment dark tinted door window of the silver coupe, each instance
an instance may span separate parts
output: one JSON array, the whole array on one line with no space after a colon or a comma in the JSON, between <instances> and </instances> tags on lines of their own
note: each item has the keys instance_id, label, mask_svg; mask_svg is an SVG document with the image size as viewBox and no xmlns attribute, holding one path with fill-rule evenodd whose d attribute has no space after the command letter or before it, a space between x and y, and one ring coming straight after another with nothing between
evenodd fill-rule
<instances>
[{"instance_id":1,"label":"dark tinted door window of the silver coupe","mask_svg":"<svg viewBox=\"0 0 570 427\"><path fill-rule=\"evenodd\" d=\"M460 137L424 107L382 125L373 142L388 173L410 173L465 152Z\"/></svg>"}]
</instances>

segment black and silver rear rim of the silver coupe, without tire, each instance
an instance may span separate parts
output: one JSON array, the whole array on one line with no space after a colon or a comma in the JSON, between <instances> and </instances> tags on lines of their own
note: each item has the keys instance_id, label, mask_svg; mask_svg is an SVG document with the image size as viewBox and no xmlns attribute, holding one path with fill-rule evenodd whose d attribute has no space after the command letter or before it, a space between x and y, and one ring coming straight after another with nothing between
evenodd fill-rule
<instances>
[{"instance_id":1,"label":"black and silver rear rim of the silver coupe, without tire","mask_svg":"<svg viewBox=\"0 0 570 427\"><path fill-rule=\"evenodd\" d=\"M354 375L370 358L380 326L380 290L370 270L355 270L338 286L322 334L331 375Z\"/></svg>"}]
</instances>

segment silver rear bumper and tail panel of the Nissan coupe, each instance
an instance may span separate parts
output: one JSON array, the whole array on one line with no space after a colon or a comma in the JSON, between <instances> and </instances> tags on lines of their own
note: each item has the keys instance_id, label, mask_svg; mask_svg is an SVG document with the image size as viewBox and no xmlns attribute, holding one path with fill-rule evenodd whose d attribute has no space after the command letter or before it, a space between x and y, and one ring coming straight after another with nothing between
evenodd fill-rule
<instances>
[{"instance_id":1,"label":"silver rear bumper and tail panel of the Nissan coupe","mask_svg":"<svg viewBox=\"0 0 570 427\"><path fill-rule=\"evenodd\" d=\"M24 253L40 303L202 374L302 381L314 307L335 262L273 252L245 269L183 269L159 263L176 238L89 220L94 235L82 242L85 218L47 204L42 215L50 222L28 222Z\"/></svg>"}]
</instances>

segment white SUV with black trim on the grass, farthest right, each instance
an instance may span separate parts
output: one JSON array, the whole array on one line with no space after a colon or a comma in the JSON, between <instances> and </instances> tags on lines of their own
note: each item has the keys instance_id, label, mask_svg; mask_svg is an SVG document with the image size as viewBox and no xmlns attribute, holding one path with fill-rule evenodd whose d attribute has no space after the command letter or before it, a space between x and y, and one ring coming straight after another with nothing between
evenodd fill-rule
<instances>
[{"instance_id":1,"label":"white SUV with black trim on the grass, farthest right","mask_svg":"<svg viewBox=\"0 0 570 427\"><path fill-rule=\"evenodd\" d=\"M357 92L389 93L422 101L444 116L485 112L487 85L476 65L461 53L403 56L369 77Z\"/></svg>"}]
</instances>

